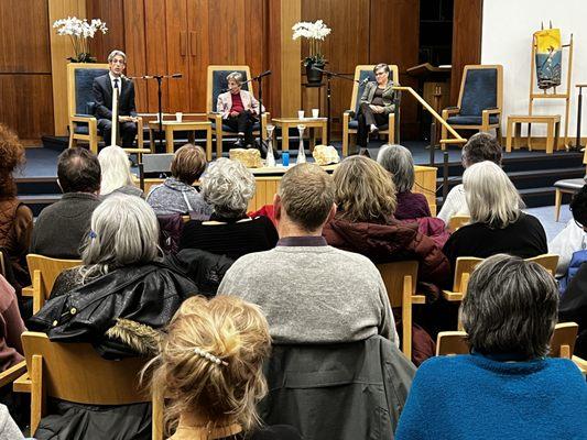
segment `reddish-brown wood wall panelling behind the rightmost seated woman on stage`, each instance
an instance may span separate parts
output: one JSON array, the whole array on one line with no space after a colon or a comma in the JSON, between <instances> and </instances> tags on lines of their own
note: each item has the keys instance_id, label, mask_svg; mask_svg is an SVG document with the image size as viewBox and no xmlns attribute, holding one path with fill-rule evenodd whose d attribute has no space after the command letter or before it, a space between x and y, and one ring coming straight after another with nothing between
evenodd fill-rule
<instances>
[{"instance_id":1,"label":"reddish-brown wood wall panelling behind the rightmost seated woman on stage","mask_svg":"<svg viewBox=\"0 0 587 440\"><path fill-rule=\"evenodd\" d=\"M304 21L322 19L333 30L323 45L328 69L352 76L358 64L396 64L400 82L409 86L415 86L405 69L417 64L418 14L420 0L302 0ZM307 44L302 45L302 54L307 54ZM341 116L349 108L351 92L351 81L333 79L335 135L341 132ZM415 102L406 97L402 102L402 135L415 135L416 111Z\"/></svg>"}]
</instances>

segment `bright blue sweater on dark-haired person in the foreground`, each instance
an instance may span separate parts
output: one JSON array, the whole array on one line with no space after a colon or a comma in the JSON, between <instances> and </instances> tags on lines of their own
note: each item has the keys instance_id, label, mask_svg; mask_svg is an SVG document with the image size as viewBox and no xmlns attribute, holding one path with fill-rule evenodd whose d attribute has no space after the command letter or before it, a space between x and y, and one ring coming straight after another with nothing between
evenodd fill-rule
<instances>
[{"instance_id":1,"label":"bright blue sweater on dark-haired person in the foreground","mask_svg":"<svg viewBox=\"0 0 587 440\"><path fill-rule=\"evenodd\" d=\"M587 384L572 361L433 358L418 369L396 440L587 439Z\"/></svg>"}]
</instances>

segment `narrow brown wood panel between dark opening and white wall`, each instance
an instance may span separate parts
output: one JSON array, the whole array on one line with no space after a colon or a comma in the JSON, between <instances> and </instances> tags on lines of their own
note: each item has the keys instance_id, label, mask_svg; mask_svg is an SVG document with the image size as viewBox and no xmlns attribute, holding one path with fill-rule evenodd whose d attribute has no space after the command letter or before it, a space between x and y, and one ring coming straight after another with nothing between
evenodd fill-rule
<instances>
[{"instance_id":1,"label":"narrow brown wood panel between dark opening and white wall","mask_svg":"<svg viewBox=\"0 0 587 440\"><path fill-rule=\"evenodd\" d=\"M450 105L456 106L463 67L481 62L483 0L455 0L453 15L453 72Z\"/></svg>"}]
</instances>

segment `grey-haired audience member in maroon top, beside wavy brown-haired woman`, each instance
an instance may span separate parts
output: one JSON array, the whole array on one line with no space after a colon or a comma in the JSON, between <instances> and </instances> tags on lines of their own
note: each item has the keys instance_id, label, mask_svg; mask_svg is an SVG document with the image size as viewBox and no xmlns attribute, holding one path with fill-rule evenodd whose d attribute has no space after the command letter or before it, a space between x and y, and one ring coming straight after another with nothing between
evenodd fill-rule
<instances>
[{"instance_id":1,"label":"grey-haired audience member in maroon top, beside wavy brown-haired woman","mask_svg":"<svg viewBox=\"0 0 587 440\"><path fill-rule=\"evenodd\" d=\"M402 145L383 145L377 162L391 173L398 204L393 217L398 220L431 217L428 201L423 194L412 193L415 172L412 153Z\"/></svg>"}]
</instances>

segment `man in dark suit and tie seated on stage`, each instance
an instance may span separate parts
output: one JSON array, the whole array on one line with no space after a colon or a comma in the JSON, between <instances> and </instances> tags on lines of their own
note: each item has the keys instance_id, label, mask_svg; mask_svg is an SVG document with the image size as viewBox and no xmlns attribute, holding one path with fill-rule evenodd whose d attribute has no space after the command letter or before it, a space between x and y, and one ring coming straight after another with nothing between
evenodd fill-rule
<instances>
[{"instance_id":1,"label":"man in dark suit and tie seated on stage","mask_svg":"<svg viewBox=\"0 0 587 440\"><path fill-rule=\"evenodd\" d=\"M119 89L118 121L122 147L132 147L137 135L137 109L134 107L134 85L122 76L127 67L127 55L112 51L108 55L110 72L94 79L93 91L96 101L98 131L106 145L111 145L112 133L112 91Z\"/></svg>"}]
</instances>

